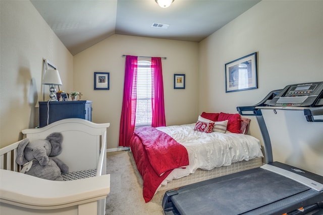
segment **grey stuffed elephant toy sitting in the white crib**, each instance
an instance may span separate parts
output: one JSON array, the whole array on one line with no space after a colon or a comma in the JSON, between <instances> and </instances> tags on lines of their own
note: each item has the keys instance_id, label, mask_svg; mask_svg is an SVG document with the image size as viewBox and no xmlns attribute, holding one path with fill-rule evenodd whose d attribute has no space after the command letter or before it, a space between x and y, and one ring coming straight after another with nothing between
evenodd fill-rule
<instances>
[{"instance_id":1,"label":"grey stuffed elephant toy sitting in the white crib","mask_svg":"<svg viewBox=\"0 0 323 215\"><path fill-rule=\"evenodd\" d=\"M62 153L63 135L59 132L49 134L46 139L29 141L24 139L18 145L16 162L23 165L20 172L43 179L63 181L62 173L69 168L58 158Z\"/></svg>"}]
</instances>

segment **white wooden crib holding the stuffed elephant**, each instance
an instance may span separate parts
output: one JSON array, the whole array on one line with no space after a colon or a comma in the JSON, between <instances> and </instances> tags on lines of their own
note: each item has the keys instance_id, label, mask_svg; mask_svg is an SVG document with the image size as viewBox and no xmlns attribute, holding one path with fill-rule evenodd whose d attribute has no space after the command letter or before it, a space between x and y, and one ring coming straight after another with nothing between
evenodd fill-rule
<instances>
[{"instance_id":1,"label":"white wooden crib holding the stuffed elephant","mask_svg":"<svg viewBox=\"0 0 323 215\"><path fill-rule=\"evenodd\" d=\"M93 176L71 181L51 181L20 173L15 142L0 149L0 214L100 214L110 192L106 175L106 129L110 123L69 118L42 128L22 130L29 140L44 139L52 132L63 134L58 156L70 173L90 170ZM71 173L72 172L72 173ZM78 174L79 175L79 174Z\"/></svg>"}]
</instances>

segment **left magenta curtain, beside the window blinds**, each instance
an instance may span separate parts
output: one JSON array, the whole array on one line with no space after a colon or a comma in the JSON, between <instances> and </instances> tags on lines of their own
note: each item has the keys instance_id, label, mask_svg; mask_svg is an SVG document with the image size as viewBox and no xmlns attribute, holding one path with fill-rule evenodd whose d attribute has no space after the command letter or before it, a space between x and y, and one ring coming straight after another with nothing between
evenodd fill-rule
<instances>
[{"instance_id":1,"label":"left magenta curtain, beside the window blinds","mask_svg":"<svg viewBox=\"0 0 323 215\"><path fill-rule=\"evenodd\" d=\"M125 83L120 120L119 146L129 147L135 129L137 103L137 56L126 56Z\"/></svg>"}]
</instances>

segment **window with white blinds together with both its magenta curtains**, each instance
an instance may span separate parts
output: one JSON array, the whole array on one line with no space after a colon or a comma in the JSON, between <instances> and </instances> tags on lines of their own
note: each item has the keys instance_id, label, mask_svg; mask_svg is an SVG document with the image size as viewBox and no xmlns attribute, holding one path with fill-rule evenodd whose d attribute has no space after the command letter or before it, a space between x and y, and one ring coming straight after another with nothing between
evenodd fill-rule
<instances>
[{"instance_id":1,"label":"window with white blinds together with both its magenta curtains","mask_svg":"<svg viewBox=\"0 0 323 215\"><path fill-rule=\"evenodd\" d=\"M125 84L119 130L119 146L121 147L130 146L130 138L136 125L166 126L161 57L151 57L151 62L139 62L137 58L137 56L126 56ZM146 81L144 81L145 79ZM133 94L132 92L137 93ZM138 110L135 110L136 107L138 107ZM135 118L138 119L135 120Z\"/></svg>"}]
</instances>

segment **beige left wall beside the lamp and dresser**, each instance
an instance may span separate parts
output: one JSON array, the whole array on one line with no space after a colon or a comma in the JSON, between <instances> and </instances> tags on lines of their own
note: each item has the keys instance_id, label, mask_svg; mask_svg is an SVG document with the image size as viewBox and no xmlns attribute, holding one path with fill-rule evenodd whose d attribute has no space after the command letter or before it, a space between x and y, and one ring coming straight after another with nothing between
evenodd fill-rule
<instances>
[{"instance_id":1,"label":"beige left wall beside the lamp and dresser","mask_svg":"<svg viewBox=\"0 0 323 215\"><path fill-rule=\"evenodd\" d=\"M42 101L43 58L58 67L62 87L72 89L73 56L29 1L0 1L0 8L0 148L3 148L21 139L22 129L39 124L37 104ZM45 92L49 92L47 86Z\"/></svg>"}]
</instances>

